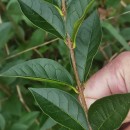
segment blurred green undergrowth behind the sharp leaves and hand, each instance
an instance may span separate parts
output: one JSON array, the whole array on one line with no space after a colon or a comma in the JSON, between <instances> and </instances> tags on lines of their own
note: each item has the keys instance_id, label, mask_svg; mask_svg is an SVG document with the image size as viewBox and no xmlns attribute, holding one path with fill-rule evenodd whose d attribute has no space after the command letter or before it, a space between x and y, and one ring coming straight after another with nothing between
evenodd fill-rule
<instances>
[{"instance_id":1,"label":"blurred green undergrowth behind the sharp leaves and hand","mask_svg":"<svg viewBox=\"0 0 130 130\"><path fill-rule=\"evenodd\" d=\"M130 0L97 0L94 7L100 13L103 38L89 77L122 51L130 50ZM58 61L72 72L63 41L36 28L22 14L17 0L0 0L0 72L43 57ZM54 87L25 79L0 78L0 130L63 130L38 112L28 91L28 87L48 85Z\"/></svg>"}]
</instances>

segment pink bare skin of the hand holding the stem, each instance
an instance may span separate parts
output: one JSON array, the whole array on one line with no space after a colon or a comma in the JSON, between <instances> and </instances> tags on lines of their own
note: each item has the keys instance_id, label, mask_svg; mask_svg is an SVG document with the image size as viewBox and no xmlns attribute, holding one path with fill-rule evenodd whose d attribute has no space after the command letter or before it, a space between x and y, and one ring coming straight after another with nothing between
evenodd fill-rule
<instances>
[{"instance_id":1,"label":"pink bare skin of the hand holding the stem","mask_svg":"<svg viewBox=\"0 0 130 130\"><path fill-rule=\"evenodd\" d=\"M123 52L87 81L84 96L89 108L97 99L128 92L130 92L130 52ZM124 123L126 122L130 122L130 112L124 120ZM128 129L130 130L130 127Z\"/></svg>"}]
</instances>

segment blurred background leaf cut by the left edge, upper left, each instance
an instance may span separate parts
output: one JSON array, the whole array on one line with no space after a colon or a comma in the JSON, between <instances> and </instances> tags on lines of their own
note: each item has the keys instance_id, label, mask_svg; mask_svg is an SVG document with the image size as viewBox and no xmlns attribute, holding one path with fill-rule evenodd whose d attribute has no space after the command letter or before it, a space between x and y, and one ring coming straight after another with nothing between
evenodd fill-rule
<instances>
[{"instance_id":1,"label":"blurred background leaf cut by the left edge, upper left","mask_svg":"<svg viewBox=\"0 0 130 130\"><path fill-rule=\"evenodd\" d=\"M0 48L12 38L14 32L12 31L13 26L10 22L0 24Z\"/></svg>"}]
</instances>

